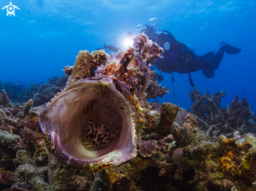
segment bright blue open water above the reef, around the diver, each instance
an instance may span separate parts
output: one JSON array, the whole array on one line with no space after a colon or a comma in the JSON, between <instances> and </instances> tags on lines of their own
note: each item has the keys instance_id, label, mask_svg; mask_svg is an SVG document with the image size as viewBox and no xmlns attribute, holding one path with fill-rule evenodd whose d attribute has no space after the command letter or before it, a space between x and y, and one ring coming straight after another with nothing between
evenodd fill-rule
<instances>
[{"instance_id":1,"label":"bright blue open water above the reef, around the diver","mask_svg":"<svg viewBox=\"0 0 256 191\"><path fill-rule=\"evenodd\" d=\"M80 50L94 51L103 44L124 47L127 31L137 34L138 24L158 18L158 30L195 49L197 55L217 52L220 41L239 47L237 55L225 53L212 79L202 71L192 74L201 93L226 91L221 107L236 95L245 97L256 111L256 1L13 1L15 16L0 11L0 66L2 82L20 85L46 82L63 75ZM0 7L9 1L0 1ZM170 94L158 99L173 102L171 75L161 73ZM176 104L190 110L187 74L174 74Z\"/></svg>"}]
</instances>

